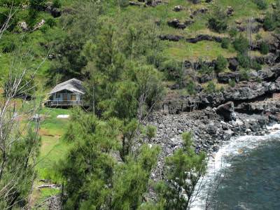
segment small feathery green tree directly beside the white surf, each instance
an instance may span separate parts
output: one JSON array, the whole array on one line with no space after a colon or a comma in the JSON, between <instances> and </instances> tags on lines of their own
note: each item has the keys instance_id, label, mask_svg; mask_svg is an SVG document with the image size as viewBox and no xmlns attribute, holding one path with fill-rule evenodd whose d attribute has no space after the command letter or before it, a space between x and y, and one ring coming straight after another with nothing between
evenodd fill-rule
<instances>
[{"instance_id":1,"label":"small feathery green tree directly beside the white surf","mask_svg":"<svg viewBox=\"0 0 280 210\"><path fill-rule=\"evenodd\" d=\"M195 153L190 133L184 133L183 148L166 160L166 181L157 186L165 209L187 209L195 185L205 173L205 153Z\"/></svg>"}]
</instances>

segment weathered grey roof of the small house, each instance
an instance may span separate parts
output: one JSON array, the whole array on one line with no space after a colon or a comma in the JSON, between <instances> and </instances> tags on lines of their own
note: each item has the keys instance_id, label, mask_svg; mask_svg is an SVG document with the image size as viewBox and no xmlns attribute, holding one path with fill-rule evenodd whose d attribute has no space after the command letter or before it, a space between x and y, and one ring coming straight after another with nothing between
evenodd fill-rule
<instances>
[{"instance_id":1,"label":"weathered grey roof of the small house","mask_svg":"<svg viewBox=\"0 0 280 210\"><path fill-rule=\"evenodd\" d=\"M59 92L62 90L69 90L71 92L77 92L80 94L85 94L85 87L83 87L82 81L77 80L76 78L72 78L71 80L67 80L64 83L60 83L56 85L49 94Z\"/></svg>"}]
</instances>

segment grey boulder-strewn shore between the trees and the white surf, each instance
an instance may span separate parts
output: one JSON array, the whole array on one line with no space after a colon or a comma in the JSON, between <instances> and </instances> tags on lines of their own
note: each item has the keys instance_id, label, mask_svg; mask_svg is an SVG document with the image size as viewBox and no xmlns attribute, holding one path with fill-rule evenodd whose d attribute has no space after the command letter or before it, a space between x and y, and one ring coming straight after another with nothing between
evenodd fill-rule
<instances>
[{"instance_id":1,"label":"grey boulder-strewn shore between the trees and the white surf","mask_svg":"<svg viewBox=\"0 0 280 210\"><path fill-rule=\"evenodd\" d=\"M164 177L165 158L182 146L181 134L192 132L195 147L200 147L208 155L232 137L244 135L260 136L269 132L267 125L280 121L280 101L277 98L260 102L248 102L235 107L234 102L226 102L218 107L207 106L206 109L179 114L166 111L154 113L148 124L157 127L157 135L149 142L162 148L158 165L151 174L153 181ZM153 197L153 190L150 192Z\"/></svg>"}]
</instances>

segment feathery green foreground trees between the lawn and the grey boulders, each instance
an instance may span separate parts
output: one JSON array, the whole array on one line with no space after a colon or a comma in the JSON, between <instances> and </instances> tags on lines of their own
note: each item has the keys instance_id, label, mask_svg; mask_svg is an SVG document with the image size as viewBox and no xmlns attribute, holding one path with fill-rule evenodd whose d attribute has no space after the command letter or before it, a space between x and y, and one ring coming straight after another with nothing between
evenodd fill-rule
<instances>
[{"instance_id":1,"label":"feathery green foreground trees between the lawn and the grey boulders","mask_svg":"<svg viewBox=\"0 0 280 210\"><path fill-rule=\"evenodd\" d=\"M66 181L65 209L137 209L141 205L159 148L143 144L137 153L117 162L121 130L116 118L102 122L81 110L73 113L64 136L71 150L59 164Z\"/></svg>"}]
</instances>

